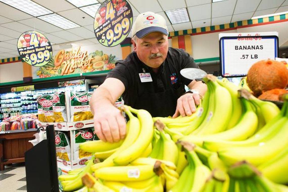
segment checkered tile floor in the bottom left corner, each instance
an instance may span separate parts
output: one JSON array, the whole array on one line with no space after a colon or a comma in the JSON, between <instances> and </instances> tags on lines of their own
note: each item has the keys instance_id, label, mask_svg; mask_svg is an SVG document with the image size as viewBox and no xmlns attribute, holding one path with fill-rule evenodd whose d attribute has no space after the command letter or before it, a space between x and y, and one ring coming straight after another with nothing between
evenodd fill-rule
<instances>
[{"instance_id":1,"label":"checkered tile floor in the bottom left corner","mask_svg":"<svg viewBox=\"0 0 288 192\"><path fill-rule=\"evenodd\" d=\"M16 163L12 166L5 166L0 171L0 191L5 192L26 192L26 172L24 163Z\"/></svg>"}]
</instances>

